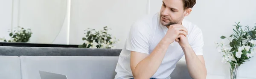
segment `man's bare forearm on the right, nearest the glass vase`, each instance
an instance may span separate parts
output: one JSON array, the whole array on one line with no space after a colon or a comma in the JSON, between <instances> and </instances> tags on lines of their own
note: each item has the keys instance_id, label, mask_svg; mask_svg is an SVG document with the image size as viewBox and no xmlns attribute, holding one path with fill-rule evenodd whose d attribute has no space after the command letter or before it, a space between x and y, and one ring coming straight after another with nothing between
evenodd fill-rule
<instances>
[{"instance_id":1,"label":"man's bare forearm on the right, nearest the glass vase","mask_svg":"<svg viewBox=\"0 0 256 79\"><path fill-rule=\"evenodd\" d=\"M206 79L207 70L190 45L182 47L189 74L193 79Z\"/></svg>"}]
</instances>

